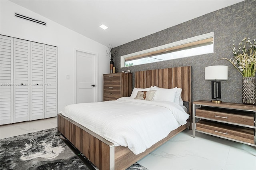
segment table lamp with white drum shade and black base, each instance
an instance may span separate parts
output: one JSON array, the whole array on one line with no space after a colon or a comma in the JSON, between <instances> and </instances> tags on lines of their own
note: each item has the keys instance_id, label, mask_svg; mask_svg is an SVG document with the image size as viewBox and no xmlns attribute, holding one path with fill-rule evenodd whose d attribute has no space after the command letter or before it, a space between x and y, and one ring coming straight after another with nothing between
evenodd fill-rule
<instances>
[{"instance_id":1,"label":"table lamp with white drum shade and black base","mask_svg":"<svg viewBox=\"0 0 256 170\"><path fill-rule=\"evenodd\" d=\"M212 80L212 102L220 103L220 80L228 79L228 66L213 65L205 67L205 80Z\"/></svg>"}]
</instances>

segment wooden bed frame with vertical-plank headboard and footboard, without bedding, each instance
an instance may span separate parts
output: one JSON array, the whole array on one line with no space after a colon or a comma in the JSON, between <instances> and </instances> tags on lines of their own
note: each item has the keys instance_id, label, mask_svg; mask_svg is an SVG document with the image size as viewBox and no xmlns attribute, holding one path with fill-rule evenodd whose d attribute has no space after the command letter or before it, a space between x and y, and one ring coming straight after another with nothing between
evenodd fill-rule
<instances>
[{"instance_id":1,"label":"wooden bed frame with vertical-plank headboard and footboard, without bedding","mask_svg":"<svg viewBox=\"0 0 256 170\"><path fill-rule=\"evenodd\" d=\"M114 146L112 142L62 114L58 114L58 131L100 170L124 170L179 132L188 127L192 130L191 66L137 71L135 73L136 88L147 88L154 85L161 88L182 88L181 97L183 101L188 102L190 118L186 125L171 131L166 138L146 149L145 152L135 155L127 147Z\"/></svg>"}]
</instances>

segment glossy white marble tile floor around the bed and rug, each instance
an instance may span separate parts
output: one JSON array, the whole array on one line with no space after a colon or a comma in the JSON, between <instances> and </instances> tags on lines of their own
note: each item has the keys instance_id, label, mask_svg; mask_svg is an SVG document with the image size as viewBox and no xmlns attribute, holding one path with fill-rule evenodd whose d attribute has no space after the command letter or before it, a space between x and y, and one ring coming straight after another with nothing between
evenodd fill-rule
<instances>
[{"instance_id":1,"label":"glossy white marble tile floor around the bed and rug","mask_svg":"<svg viewBox=\"0 0 256 170\"><path fill-rule=\"evenodd\" d=\"M0 126L0 139L57 127L57 118ZM256 170L256 147L184 130L138 163L148 170Z\"/></svg>"}]
</instances>

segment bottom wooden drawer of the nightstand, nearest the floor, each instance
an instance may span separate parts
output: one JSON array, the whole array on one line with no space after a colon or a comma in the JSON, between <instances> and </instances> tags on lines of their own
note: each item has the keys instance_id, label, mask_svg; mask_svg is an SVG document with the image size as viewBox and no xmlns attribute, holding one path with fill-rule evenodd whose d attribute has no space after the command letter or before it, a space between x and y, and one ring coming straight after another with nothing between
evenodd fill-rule
<instances>
[{"instance_id":1,"label":"bottom wooden drawer of the nightstand, nearest the floor","mask_svg":"<svg viewBox=\"0 0 256 170\"><path fill-rule=\"evenodd\" d=\"M254 144L255 129L253 130L252 128L216 124L211 121L201 120L196 123L196 130Z\"/></svg>"}]
</instances>

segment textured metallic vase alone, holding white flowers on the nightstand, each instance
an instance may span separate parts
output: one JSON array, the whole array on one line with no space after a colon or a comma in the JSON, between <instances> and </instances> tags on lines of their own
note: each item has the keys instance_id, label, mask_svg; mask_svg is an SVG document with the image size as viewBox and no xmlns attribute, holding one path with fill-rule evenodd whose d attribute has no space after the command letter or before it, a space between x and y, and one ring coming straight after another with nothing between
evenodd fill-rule
<instances>
[{"instance_id":1,"label":"textured metallic vase alone, holding white flowers on the nightstand","mask_svg":"<svg viewBox=\"0 0 256 170\"><path fill-rule=\"evenodd\" d=\"M256 104L255 77L243 77L242 101L246 105Z\"/></svg>"}]
</instances>

